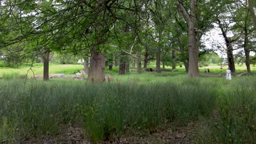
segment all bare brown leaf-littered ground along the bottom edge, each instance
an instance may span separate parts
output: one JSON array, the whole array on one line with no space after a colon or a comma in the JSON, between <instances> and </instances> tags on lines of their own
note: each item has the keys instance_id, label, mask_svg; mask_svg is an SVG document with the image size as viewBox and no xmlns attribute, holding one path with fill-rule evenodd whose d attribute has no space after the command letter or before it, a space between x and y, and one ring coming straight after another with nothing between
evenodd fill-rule
<instances>
[{"instance_id":1,"label":"all bare brown leaf-littered ground along the bottom edge","mask_svg":"<svg viewBox=\"0 0 256 144\"><path fill-rule=\"evenodd\" d=\"M113 140L106 140L98 142L97 144L115 144L115 143L139 143L139 144L164 144L164 143L196 143L195 133L199 123L188 123L187 125L174 125L171 124L166 127L158 128L147 133L130 132L125 133L120 137L115 137ZM67 125L65 130L56 137L43 137L43 139L36 140L20 140L18 143L79 143L90 144L91 142L86 139L82 128Z\"/></svg>"}]
</instances>

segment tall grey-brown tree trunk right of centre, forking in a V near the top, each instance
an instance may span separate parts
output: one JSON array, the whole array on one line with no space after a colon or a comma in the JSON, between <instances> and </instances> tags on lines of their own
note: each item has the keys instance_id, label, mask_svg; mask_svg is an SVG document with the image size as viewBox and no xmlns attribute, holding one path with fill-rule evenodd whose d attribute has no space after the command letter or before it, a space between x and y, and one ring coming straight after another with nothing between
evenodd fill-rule
<instances>
[{"instance_id":1,"label":"tall grey-brown tree trunk right of centre, forking in a V near the top","mask_svg":"<svg viewBox=\"0 0 256 144\"><path fill-rule=\"evenodd\" d=\"M182 15L188 25L188 51L189 51L189 77L198 77L199 76L199 67L198 67L198 45L196 40L196 0L190 0L190 14L183 7L181 0L176 0L176 3L179 9L182 12Z\"/></svg>"}]
</instances>

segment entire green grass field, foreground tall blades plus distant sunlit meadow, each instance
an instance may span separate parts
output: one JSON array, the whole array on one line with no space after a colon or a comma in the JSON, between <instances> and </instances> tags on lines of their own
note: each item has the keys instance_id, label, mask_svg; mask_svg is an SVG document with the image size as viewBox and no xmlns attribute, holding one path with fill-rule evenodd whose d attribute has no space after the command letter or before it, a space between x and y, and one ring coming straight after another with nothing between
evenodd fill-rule
<instances>
[{"instance_id":1,"label":"entire green grass field, foreground tall blades plus distant sunlit meadow","mask_svg":"<svg viewBox=\"0 0 256 144\"><path fill-rule=\"evenodd\" d=\"M82 68L51 65L50 71L72 75ZM213 74L223 73L211 69ZM9 70L22 75L27 67ZM4 77L9 70L0 74ZM42 68L35 70L42 72ZM79 125L96 143L135 132L151 135L159 128L186 127L191 122L199 123L193 130L194 142L256 141L254 75L227 81L224 77L189 79L181 68L123 76L117 70L107 70L112 83L90 85L67 79L0 80L0 142L54 137L62 133L63 125L71 124Z\"/></svg>"}]
</instances>

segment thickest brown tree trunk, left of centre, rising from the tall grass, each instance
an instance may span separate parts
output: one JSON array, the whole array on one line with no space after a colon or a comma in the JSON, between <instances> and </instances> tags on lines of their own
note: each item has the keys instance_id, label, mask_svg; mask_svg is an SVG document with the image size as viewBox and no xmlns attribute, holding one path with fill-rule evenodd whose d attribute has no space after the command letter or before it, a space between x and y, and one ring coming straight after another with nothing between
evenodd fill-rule
<instances>
[{"instance_id":1,"label":"thickest brown tree trunk, left of centre, rising from the tall grass","mask_svg":"<svg viewBox=\"0 0 256 144\"><path fill-rule=\"evenodd\" d=\"M95 49L91 51L88 82L103 82L105 80L105 57Z\"/></svg>"}]
</instances>

